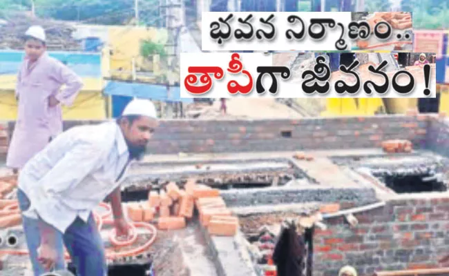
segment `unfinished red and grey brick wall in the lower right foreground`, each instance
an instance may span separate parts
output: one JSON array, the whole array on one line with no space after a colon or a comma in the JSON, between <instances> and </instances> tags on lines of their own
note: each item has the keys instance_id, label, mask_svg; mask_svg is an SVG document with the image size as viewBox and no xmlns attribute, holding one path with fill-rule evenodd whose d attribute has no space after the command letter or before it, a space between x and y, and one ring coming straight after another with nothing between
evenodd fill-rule
<instances>
[{"instance_id":1,"label":"unfinished red and grey brick wall in the lower right foreground","mask_svg":"<svg viewBox=\"0 0 449 276\"><path fill-rule=\"evenodd\" d=\"M439 268L449 254L449 198L396 199L383 208L355 214L351 228L343 217L327 219L327 230L316 230L314 275L335 276L354 266L360 276L374 270Z\"/></svg>"}]
</instances>

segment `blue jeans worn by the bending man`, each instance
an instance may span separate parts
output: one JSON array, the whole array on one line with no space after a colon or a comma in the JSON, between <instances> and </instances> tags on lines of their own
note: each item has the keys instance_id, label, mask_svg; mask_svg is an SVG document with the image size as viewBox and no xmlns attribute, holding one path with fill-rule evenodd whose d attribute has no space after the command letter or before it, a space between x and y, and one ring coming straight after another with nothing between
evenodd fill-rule
<instances>
[{"instance_id":1,"label":"blue jeans worn by the bending man","mask_svg":"<svg viewBox=\"0 0 449 276\"><path fill-rule=\"evenodd\" d=\"M17 199L21 212L30 208L30 200L20 189L17 190ZM64 215L64 214L61 214ZM37 259L37 249L41 243L39 220L22 215L23 231L26 244L30 252L30 261L35 276L40 276L46 271ZM57 252L59 259L55 270L64 270L64 246L66 245L70 259L77 268L78 276L107 276L107 266L104 254L102 237L99 235L97 224L90 214L88 222L77 217L64 235L57 231Z\"/></svg>"}]
</instances>

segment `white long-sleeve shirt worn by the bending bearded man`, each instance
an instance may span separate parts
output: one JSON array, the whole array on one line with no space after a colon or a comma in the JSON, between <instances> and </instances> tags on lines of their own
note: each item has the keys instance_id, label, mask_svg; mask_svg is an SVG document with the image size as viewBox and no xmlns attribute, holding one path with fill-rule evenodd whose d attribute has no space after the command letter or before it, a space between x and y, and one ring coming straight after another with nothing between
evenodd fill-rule
<instances>
[{"instance_id":1,"label":"white long-sleeve shirt worn by the bending bearded man","mask_svg":"<svg viewBox=\"0 0 449 276\"><path fill-rule=\"evenodd\" d=\"M30 137L32 139L32 137ZM129 152L115 121L77 126L61 133L30 159L19 175L19 188L30 199L23 213L64 233L120 185ZM128 167L128 166L127 166Z\"/></svg>"}]
</instances>

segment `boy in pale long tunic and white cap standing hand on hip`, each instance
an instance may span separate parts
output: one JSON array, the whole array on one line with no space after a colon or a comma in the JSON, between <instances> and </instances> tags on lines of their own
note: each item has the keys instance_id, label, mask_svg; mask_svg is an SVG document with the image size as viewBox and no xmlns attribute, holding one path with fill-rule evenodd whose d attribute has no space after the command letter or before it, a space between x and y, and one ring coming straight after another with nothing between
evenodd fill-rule
<instances>
[{"instance_id":1,"label":"boy in pale long tunic and white cap standing hand on hip","mask_svg":"<svg viewBox=\"0 0 449 276\"><path fill-rule=\"evenodd\" d=\"M62 132L61 104L70 106L83 86L75 72L48 56L40 26L26 31L25 53L17 75L17 122L6 159L15 173Z\"/></svg>"}]
</instances>

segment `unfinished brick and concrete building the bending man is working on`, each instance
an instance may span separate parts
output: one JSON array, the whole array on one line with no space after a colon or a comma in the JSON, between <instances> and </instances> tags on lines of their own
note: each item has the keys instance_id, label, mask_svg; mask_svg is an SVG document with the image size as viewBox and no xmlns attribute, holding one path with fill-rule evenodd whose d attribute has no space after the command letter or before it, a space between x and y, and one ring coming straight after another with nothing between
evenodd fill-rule
<instances>
[{"instance_id":1,"label":"unfinished brick and concrete building the bending man is working on","mask_svg":"<svg viewBox=\"0 0 449 276\"><path fill-rule=\"evenodd\" d=\"M78 124L86 121L65 127ZM11 133L14 123L1 128ZM151 266L156 275L272 275L286 219L304 235L303 254L289 257L303 259L307 275L347 264L362 276L449 275L448 133L445 115L412 110L162 121L152 155L122 187L136 237L117 246L110 207L95 210L110 275ZM19 275L28 259L15 179L1 187L1 275Z\"/></svg>"}]
</instances>

